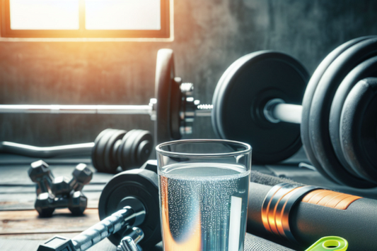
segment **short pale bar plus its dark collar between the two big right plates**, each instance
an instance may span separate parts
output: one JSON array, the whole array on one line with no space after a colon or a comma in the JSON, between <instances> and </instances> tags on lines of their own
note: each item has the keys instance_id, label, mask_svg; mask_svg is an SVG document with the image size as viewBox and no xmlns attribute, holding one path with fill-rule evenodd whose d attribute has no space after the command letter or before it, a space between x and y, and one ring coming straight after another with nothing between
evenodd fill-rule
<instances>
[{"instance_id":1,"label":"short pale bar plus its dark collar between the two big right plates","mask_svg":"<svg viewBox=\"0 0 377 251\"><path fill-rule=\"evenodd\" d=\"M301 123L303 106L298 104L285 104L282 99L271 99L265 105L263 113L269 122Z\"/></svg>"}]
</instances>

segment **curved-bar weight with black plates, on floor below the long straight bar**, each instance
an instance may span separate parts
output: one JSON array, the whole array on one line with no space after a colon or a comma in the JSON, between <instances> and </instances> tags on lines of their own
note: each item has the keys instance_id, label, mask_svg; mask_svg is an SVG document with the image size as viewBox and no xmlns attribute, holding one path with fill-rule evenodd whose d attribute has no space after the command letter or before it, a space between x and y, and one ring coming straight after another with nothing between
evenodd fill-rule
<instances>
[{"instance_id":1,"label":"curved-bar weight with black plates, on floor below the long straight bar","mask_svg":"<svg viewBox=\"0 0 377 251\"><path fill-rule=\"evenodd\" d=\"M91 153L93 166L100 172L115 173L141 166L151 154L153 137L146 130L105 129L94 142L62 145L57 147L34 147L13 142L0 142L0 152L21 154L29 157L50 158L66 154Z\"/></svg>"}]
</instances>

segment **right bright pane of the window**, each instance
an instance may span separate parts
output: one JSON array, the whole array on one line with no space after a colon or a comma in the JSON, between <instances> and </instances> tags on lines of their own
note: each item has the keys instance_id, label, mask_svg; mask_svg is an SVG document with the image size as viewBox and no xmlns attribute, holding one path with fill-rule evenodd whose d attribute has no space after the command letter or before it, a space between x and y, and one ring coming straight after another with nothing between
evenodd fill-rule
<instances>
[{"instance_id":1,"label":"right bright pane of the window","mask_svg":"<svg viewBox=\"0 0 377 251\"><path fill-rule=\"evenodd\" d=\"M161 30L160 0L86 0L87 30Z\"/></svg>"}]
</instances>

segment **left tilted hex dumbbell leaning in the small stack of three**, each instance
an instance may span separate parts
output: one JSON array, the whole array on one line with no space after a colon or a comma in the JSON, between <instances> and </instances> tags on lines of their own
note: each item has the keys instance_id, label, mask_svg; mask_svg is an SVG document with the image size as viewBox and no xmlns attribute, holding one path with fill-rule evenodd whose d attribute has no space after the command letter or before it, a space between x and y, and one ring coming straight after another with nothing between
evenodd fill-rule
<instances>
[{"instance_id":1,"label":"left tilted hex dumbbell leaning in the small stack of three","mask_svg":"<svg viewBox=\"0 0 377 251\"><path fill-rule=\"evenodd\" d=\"M30 165L28 174L30 179L34 183L37 183L37 195L51 191L54 176L45 161L39 160L33 162Z\"/></svg>"}]
</instances>

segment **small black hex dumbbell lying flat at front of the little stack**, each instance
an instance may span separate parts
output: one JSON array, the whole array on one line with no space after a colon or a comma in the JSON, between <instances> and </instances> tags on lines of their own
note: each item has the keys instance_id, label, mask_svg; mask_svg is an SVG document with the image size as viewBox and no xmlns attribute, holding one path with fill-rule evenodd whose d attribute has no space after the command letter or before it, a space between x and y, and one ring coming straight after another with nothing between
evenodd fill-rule
<instances>
[{"instance_id":1,"label":"small black hex dumbbell lying flat at front of the little stack","mask_svg":"<svg viewBox=\"0 0 377 251\"><path fill-rule=\"evenodd\" d=\"M35 209L41 217L50 217L57 208L68 207L74 215L81 215L86 209L88 199L81 191L71 192L68 196L54 196L43 192L37 196Z\"/></svg>"}]
</instances>

